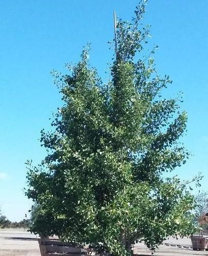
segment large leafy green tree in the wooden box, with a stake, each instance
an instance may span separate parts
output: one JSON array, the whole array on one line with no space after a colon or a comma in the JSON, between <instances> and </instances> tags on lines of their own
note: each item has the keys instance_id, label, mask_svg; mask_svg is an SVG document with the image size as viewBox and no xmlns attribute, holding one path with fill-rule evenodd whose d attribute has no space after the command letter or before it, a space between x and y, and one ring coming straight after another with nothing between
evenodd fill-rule
<instances>
[{"instance_id":1,"label":"large leafy green tree in the wooden box, with a stake","mask_svg":"<svg viewBox=\"0 0 208 256\"><path fill-rule=\"evenodd\" d=\"M135 241L154 249L167 236L194 232L186 182L163 177L189 156L178 144L187 113L161 95L171 80L155 70L157 47L142 58L145 2L131 23L118 21L108 83L89 66L89 47L68 74L53 72L64 104L54 130L41 131L46 158L27 162L26 195L39 207L31 231L121 256L131 255Z\"/></svg>"}]
</instances>

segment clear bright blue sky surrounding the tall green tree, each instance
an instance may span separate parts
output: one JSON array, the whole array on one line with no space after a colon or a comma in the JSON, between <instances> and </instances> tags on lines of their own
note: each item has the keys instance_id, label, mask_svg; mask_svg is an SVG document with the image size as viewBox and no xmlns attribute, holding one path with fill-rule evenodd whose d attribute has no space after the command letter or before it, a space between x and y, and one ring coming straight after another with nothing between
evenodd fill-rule
<instances>
[{"instance_id":1,"label":"clear bright blue sky surrounding the tall green tree","mask_svg":"<svg viewBox=\"0 0 208 256\"><path fill-rule=\"evenodd\" d=\"M113 11L132 17L137 1L124 0L3 0L0 2L0 205L10 220L20 220L30 202L23 195L24 162L39 163L40 130L50 129L51 113L61 105L49 72L64 71L77 61L82 47L92 43L90 61L105 80L111 60ZM208 176L208 2L207 0L149 0L144 22L151 24L151 42L160 74L169 74L172 88L184 92L182 109L189 115L184 143L193 157L176 170L182 179L198 171Z\"/></svg>"}]
</instances>

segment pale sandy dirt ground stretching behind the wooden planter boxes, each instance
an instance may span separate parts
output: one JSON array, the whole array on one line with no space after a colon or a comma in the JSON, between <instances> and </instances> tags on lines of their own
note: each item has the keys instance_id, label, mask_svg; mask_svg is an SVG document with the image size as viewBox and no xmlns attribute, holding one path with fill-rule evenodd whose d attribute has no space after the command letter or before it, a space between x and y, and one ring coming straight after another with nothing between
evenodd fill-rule
<instances>
[{"instance_id":1,"label":"pale sandy dirt ground stretching behind the wooden planter boxes","mask_svg":"<svg viewBox=\"0 0 208 256\"><path fill-rule=\"evenodd\" d=\"M40 256L38 237L22 229L0 229L0 255L1 256ZM167 245L160 246L155 256L190 256L207 255L208 251L193 251L190 239L170 238L164 241ZM183 246L184 248L179 248ZM186 247L186 248L185 248ZM144 244L138 244L135 253L144 256L151 255Z\"/></svg>"}]
</instances>

